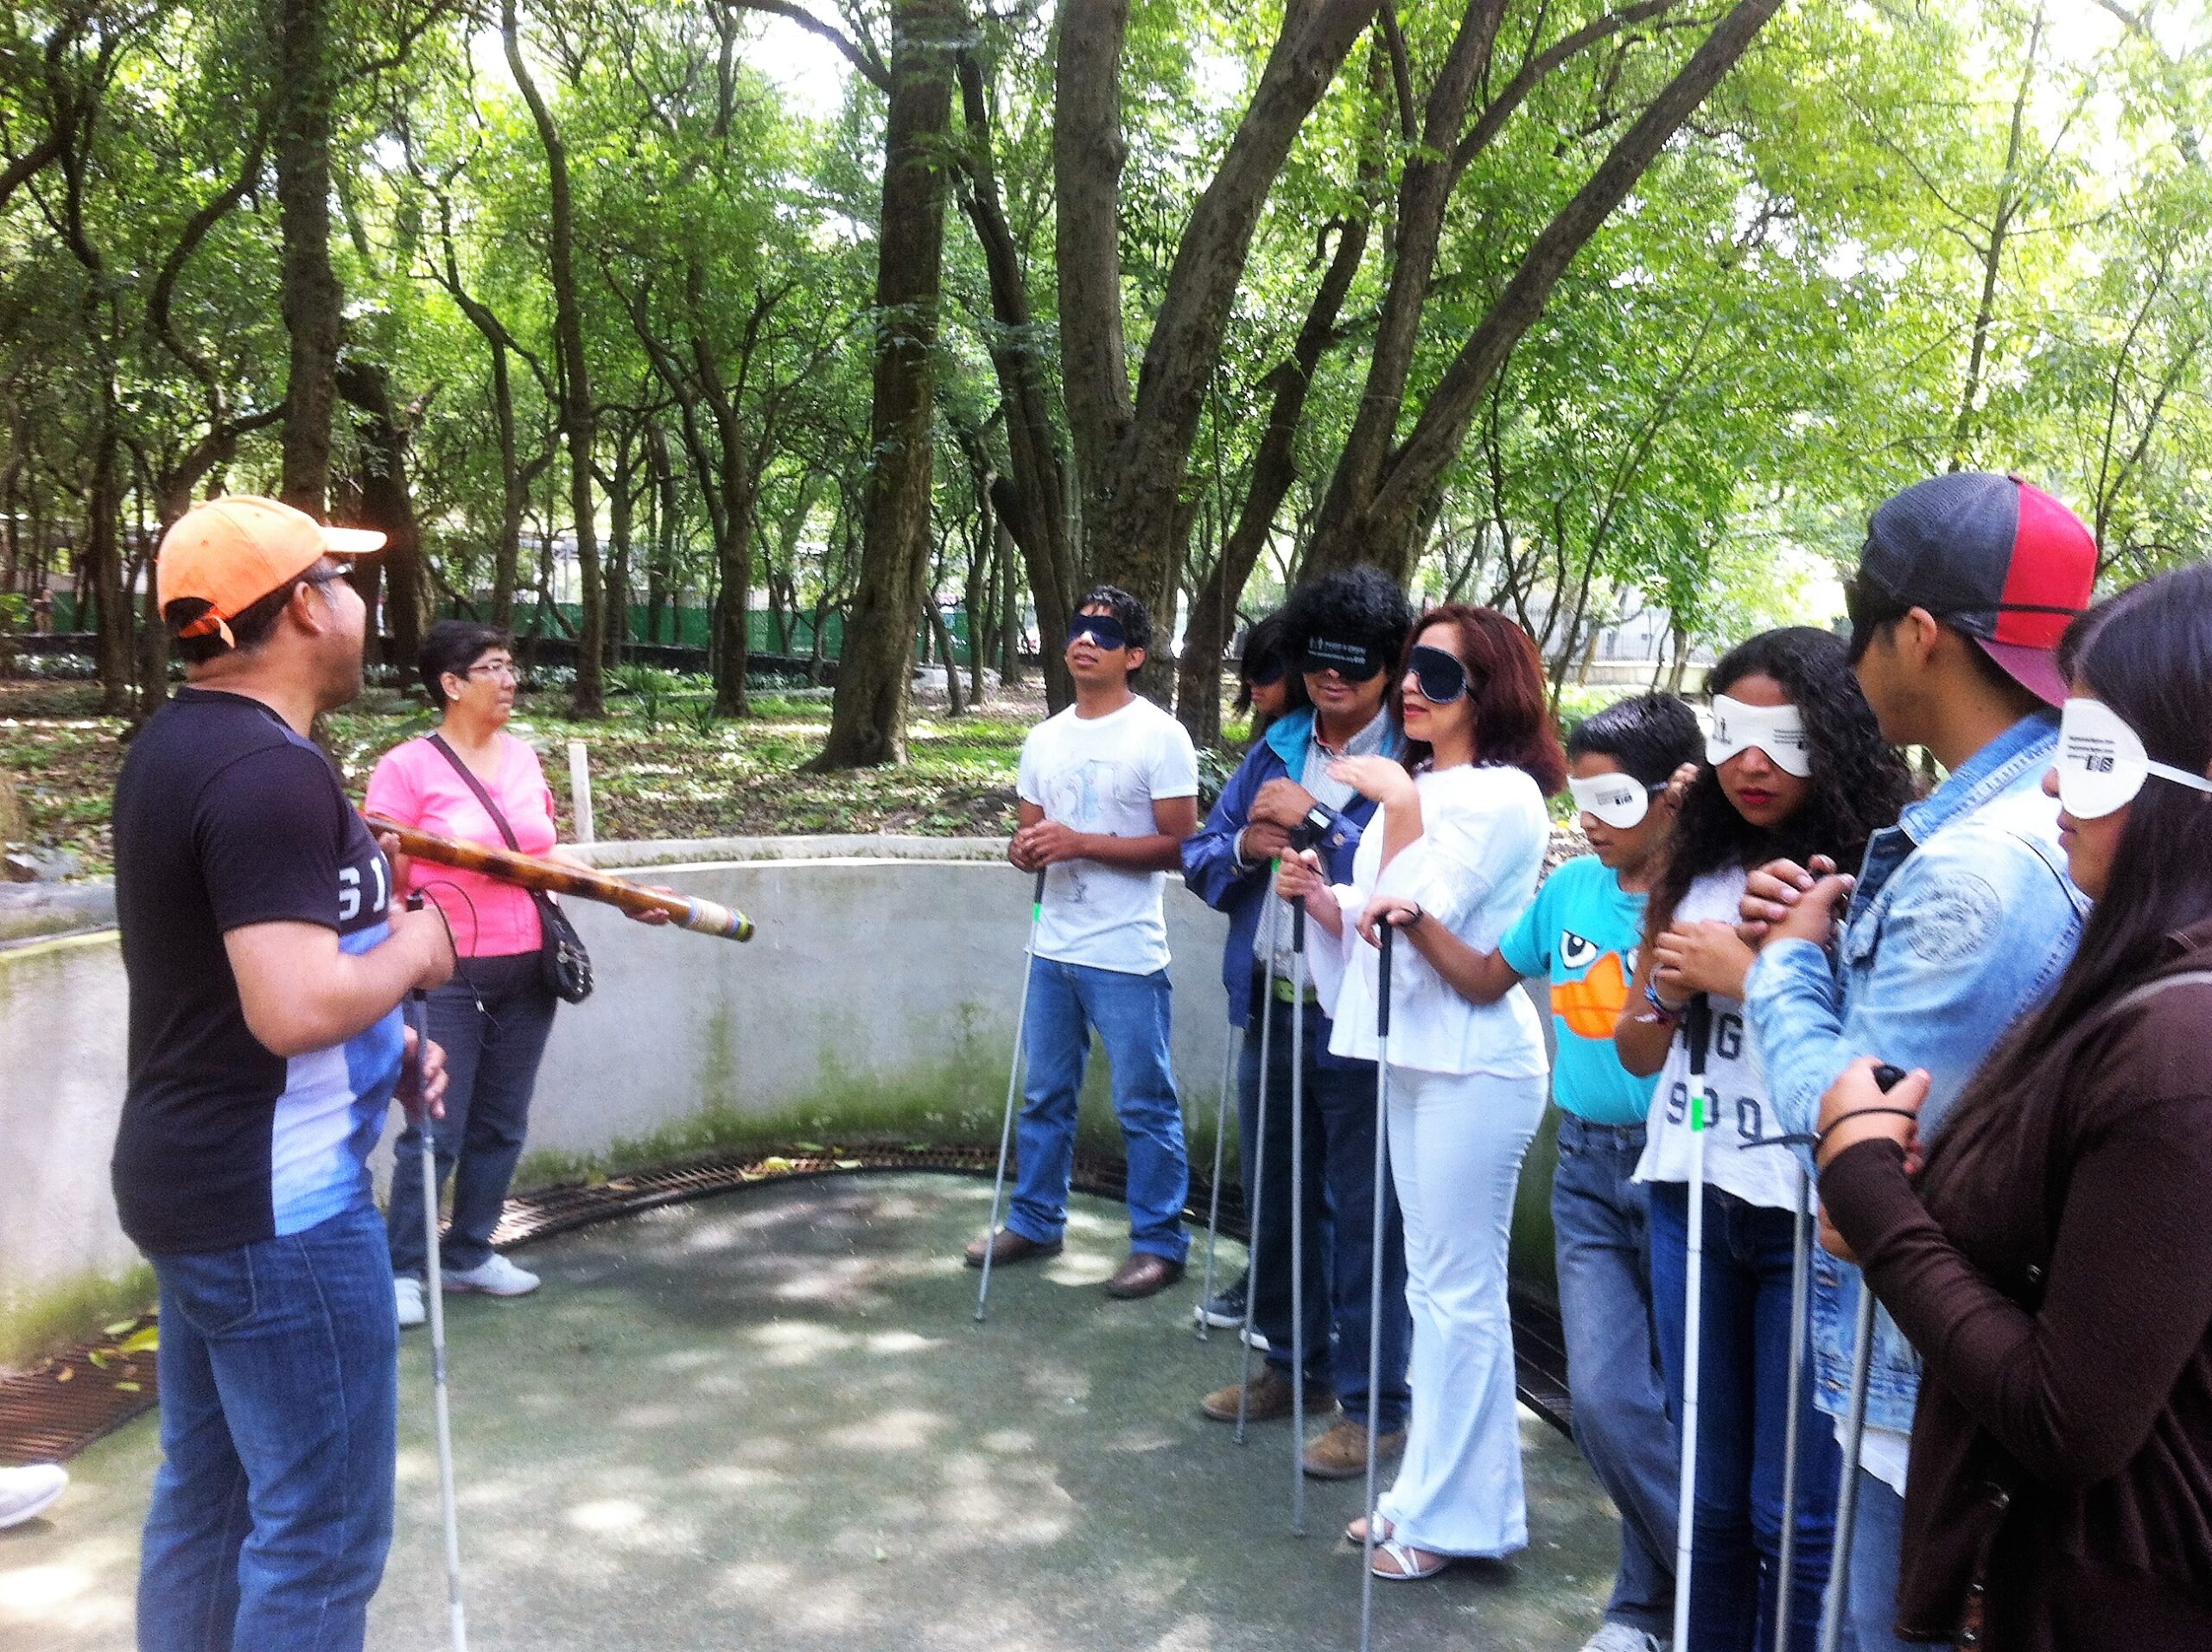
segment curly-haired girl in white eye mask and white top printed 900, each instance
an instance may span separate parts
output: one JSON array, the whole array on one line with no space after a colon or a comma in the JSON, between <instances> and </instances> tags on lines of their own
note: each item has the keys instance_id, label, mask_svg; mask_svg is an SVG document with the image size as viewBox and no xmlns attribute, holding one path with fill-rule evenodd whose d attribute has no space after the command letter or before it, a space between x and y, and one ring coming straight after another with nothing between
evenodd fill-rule
<instances>
[{"instance_id":1,"label":"curly-haired girl in white eye mask and white top printed 900","mask_svg":"<svg viewBox=\"0 0 2212 1652\"><path fill-rule=\"evenodd\" d=\"M1796 1570L1792 1599L1776 1603L1796 1165L1787 1148L1763 1146L1781 1130L1743 1028L1754 953L1736 938L1736 909L1747 871L1767 860L1820 854L1858 865L1867 838L1911 801L1913 783L1858 692L1849 650L1825 630L1787 626L1736 644L1705 688L1705 765L1681 798L1615 1046L1630 1073L1661 1075L1637 1181L1650 1183L1652 1303L1677 1420L1688 1362L1688 1183L1697 1135L1705 1137L1688 1639L1697 1652L1765 1648L1787 1612L1790 1643L1809 1648L1827 1586L1840 1453L1827 1431L1801 1429ZM1710 1044L1692 1084L1686 1017L1699 995ZM1692 1126L1692 1090L1703 1090L1703 1132ZM1809 1378L1809 1362L1805 1369Z\"/></svg>"}]
</instances>

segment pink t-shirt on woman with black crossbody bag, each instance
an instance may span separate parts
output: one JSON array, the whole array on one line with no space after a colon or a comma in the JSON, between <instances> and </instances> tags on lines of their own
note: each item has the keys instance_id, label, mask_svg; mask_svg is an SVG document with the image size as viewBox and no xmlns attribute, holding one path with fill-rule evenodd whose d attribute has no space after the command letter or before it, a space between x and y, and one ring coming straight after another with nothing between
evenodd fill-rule
<instances>
[{"instance_id":1,"label":"pink t-shirt on woman with black crossbody bag","mask_svg":"<svg viewBox=\"0 0 2212 1652\"><path fill-rule=\"evenodd\" d=\"M513 734L498 736L498 752L500 772L478 778L498 801L522 854L544 854L557 834L553 829L553 792L546 790L538 752ZM476 801L476 792L453 772L445 752L427 739L394 745L378 759L363 812L380 814L418 832L434 832L440 838L482 843L491 849L507 847L507 838L500 836L500 827L493 825L484 805ZM407 865L400 893L407 896L416 889L427 889L429 898L445 911L462 958L533 953L542 942L538 907L526 889L495 882L480 871L414 860Z\"/></svg>"}]
</instances>

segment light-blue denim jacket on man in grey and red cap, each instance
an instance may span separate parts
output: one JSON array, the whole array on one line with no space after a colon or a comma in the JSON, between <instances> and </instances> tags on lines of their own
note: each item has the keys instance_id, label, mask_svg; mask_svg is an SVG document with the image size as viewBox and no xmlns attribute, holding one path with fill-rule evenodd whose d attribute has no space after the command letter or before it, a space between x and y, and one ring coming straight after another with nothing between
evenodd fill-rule
<instances>
[{"instance_id":1,"label":"light-blue denim jacket on man in grey and red cap","mask_svg":"<svg viewBox=\"0 0 2212 1652\"><path fill-rule=\"evenodd\" d=\"M1836 1075L1878 1055L1929 1070L1931 1137L2004 1028L2057 982L2088 896L2066 878L2057 805L2042 794L2055 752L2048 714L2008 728L1874 834L1834 953L1785 940L1752 964L1745 1015L1783 1128L1809 1132ZM1814 1398L1832 1415L1849 1402L1856 1311L1858 1269L1816 1252ZM1920 1356L1878 1314L1867 1422L1911 1429L1918 1391Z\"/></svg>"}]
</instances>

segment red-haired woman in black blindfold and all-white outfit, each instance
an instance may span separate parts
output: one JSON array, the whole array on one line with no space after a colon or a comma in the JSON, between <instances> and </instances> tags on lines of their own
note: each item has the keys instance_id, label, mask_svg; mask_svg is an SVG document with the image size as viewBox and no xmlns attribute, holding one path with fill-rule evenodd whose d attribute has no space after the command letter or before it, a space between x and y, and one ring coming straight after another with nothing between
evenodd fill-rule
<instances>
[{"instance_id":1,"label":"red-haired woman in black blindfold and all-white outfit","mask_svg":"<svg viewBox=\"0 0 2212 1652\"><path fill-rule=\"evenodd\" d=\"M1433 966L1444 935L1489 951L1535 896L1566 756L1528 635L1493 608L1422 617L1391 690L1405 761L1332 772L1380 803L1352 885L1285 860L1281 889L1323 931L1314 958L1336 1055L1376 1059L1376 922L1391 960L1389 1159L1405 1214L1413 1415L1380 1499L1376 1577L1436 1577L1524 1548L1506 1243L1522 1154L1544 1117L1544 1028L1524 993L1460 997ZM1356 922L1354 922L1356 920ZM1354 1541L1365 1524L1354 1522Z\"/></svg>"}]
</instances>

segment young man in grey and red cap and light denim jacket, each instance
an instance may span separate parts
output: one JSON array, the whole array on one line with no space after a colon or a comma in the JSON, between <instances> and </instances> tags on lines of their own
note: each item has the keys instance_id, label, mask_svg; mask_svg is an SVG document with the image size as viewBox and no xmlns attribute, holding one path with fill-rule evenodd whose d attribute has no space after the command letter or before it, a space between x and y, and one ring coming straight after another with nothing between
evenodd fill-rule
<instances>
[{"instance_id":1,"label":"young man in grey and red cap and light denim jacket","mask_svg":"<svg viewBox=\"0 0 2212 1652\"><path fill-rule=\"evenodd\" d=\"M2081 520L2017 475L1938 475L1874 513L1847 586L1851 659L1882 734L1927 747L1947 778L1874 836L1856 887L1825 862L1750 878L1745 938L1761 953L1743 997L1783 1128L1812 1130L1823 1090L1854 1057L1876 1055L1927 1068L1920 1130L1933 1135L2073 958L2088 900L2066 878L2042 778L2066 699L2057 644L2095 575ZM1820 1258L1814 1391L1838 1437L1858 1292L1854 1267ZM1845 1462L1858 1473L1858 1526L1843 1610L1860 1652L1902 1645L1898 1530L1916 1398L1918 1360L1880 1314L1865 1440L1856 1471Z\"/></svg>"}]
</instances>

